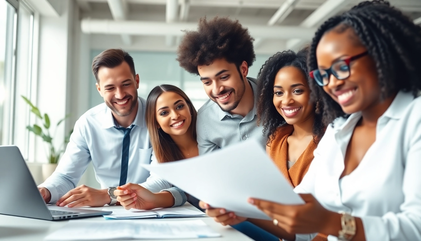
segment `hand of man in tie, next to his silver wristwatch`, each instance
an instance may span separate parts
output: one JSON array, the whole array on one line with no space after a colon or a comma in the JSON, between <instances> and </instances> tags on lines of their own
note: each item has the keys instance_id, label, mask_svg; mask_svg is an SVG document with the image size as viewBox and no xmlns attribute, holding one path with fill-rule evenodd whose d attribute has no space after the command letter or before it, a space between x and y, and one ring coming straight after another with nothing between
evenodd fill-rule
<instances>
[{"instance_id":1,"label":"hand of man in tie, next to his silver wristwatch","mask_svg":"<svg viewBox=\"0 0 421 241\"><path fill-rule=\"evenodd\" d=\"M77 208L83 206L102 207L109 203L111 203L111 198L107 189L98 190L82 185L67 192L57 201L56 205Z\"/></svg>"}]
</instances>

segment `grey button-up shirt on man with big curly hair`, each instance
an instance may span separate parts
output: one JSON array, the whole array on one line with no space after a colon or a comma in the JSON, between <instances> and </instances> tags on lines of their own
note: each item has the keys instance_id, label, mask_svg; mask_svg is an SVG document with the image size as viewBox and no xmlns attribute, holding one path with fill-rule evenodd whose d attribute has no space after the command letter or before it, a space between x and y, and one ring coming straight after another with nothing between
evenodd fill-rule
<instances>
[{"instance_id":1,"label":"grey button-up shirt on man with big curly hair","mask_svg":"<svg viewBox=\"0 0 421 241\"><path fill-rule=\"evenodd\" d=\"M254 106L244 118L221 110L210 99L199 109L196 130L200 155L250 138L256 139L262 148L266 148L267 137L263 136L263 127L256 123L257 80L249 77L247 79L253 89Z\"/></svg>"}]
</instances>

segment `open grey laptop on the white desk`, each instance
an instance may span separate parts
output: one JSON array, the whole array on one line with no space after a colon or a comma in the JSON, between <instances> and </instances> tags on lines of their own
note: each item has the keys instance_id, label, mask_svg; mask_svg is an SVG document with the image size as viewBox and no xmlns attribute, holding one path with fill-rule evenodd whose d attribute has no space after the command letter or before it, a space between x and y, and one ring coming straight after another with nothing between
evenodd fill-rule
<instances>
[{"instance_id":1,"label":"open grey laptop on the white desk","mask_svg":"<svg viewBox=\"0 0 421 241\"><path fill-rule=\"evenodd\" d=\"M53 221L112 213L46 205L17 146L0 146L0 184L0 214Z\"/></svg>"}]
</instances>

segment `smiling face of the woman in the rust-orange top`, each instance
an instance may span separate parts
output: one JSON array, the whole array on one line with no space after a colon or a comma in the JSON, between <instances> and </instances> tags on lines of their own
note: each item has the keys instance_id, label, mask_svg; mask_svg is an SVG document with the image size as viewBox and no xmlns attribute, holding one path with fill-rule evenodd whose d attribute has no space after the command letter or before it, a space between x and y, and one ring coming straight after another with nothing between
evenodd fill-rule
<instances>
[{"instance_id":1,"label":"smiling face of the woman in the rust-orange top","mask_svg":"<svg viewBox=\"0 0 421 241\"><path fill-rule=\"evenodd\" d=\"M290 124L299 124L314 115L306 76L293 66L281 68L275 76L273 104Z\"/></svg>"}]
</instances>

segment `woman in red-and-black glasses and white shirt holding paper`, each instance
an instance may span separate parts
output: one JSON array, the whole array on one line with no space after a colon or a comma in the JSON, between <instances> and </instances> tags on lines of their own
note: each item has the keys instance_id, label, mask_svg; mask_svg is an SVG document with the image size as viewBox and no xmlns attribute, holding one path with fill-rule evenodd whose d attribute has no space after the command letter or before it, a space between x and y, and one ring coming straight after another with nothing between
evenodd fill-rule
<instances>
[{"instance_id":1,"label":"woman in red-and-black glasses and white shirt holding paper","mask_svg":"<svg viewBox=\"0 0 421 241\"><path fill-rule=\"evenodd\" d=\"M288 240L421 240L421 27L384 1L328 19L313 38L313 98L329 123L294 189L305 204L250 198ZM321 221L323 220L323 221Z\"/></svg>"}]
</instances>

